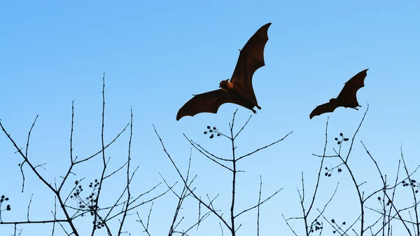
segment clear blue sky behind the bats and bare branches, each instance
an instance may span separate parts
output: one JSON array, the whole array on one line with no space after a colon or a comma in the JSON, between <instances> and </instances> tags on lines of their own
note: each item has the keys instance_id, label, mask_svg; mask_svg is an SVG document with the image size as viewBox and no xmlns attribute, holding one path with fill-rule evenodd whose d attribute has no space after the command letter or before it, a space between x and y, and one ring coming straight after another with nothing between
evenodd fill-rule
<instances>
[{"instance_id":1,"label":"clear blue sky behind the bats and bare branches","mask_svg":"<svg viewBox=\"0 0 420 236\"><path fill-rule=\"evenodd\" d=\"M237 179L237 209L239 212L258 200L262 174L262 197L279 188L283 190L262 206L260 233L292 235L281 214L300 216L296 187L301 186L302 172L307 181L305 188L308 191L314 188L320 160L311 154L322 154L328 116L327 153L332 155L336 146L333 138L339 132L352 136L369 104L350 163L358 181L367 181L366 192L379 188L381 182L360 140L391 179L395 176L402 144L412 169L419 165L416 153L420 141L419 99L416 98L420 78L419 9L416 1L3 2L0 5L1 123L24 147L31 123L39 115L29 155L36 164L47 163L40 172L53 182L69 165L73 100L74 155L85 157L101 148L102 74L105 72L106 141L111 141L130 123L130 107L134 112L132 165L139 165L134 192L142 193L159 183L158 173L169 183L175 183L180 179L152 125L183 170L188 165L191 148L183 134L212 153L228 157L228 140L209 139L202 132L207 125L228 132L228 123L236 109L239 109L237 127L248 119L251 111L224 104L218 114L201 113L179 121L176 113L191 95L214 90L221 80L229 78L237 62L238 49L259 27L272 22L265 47L266 65L253 77L262 110L252 116L237 139L237 152L245 154L288 132L293 134L239 162L239 168L246 172L240 173ZM359 111L339 108L309 120L312 109L336 97L349 78L367 68L365 87L358 90L358 102L362 106ZM129 133L125 132L106 152L111 157L110 169L125 162L128 139ZM348 147L346 144L343 148ZM202 197L220 194L216 205L227 216L230 174L198 151L193 150L192 155L191 172L198 174L197 193ZM27 179L32 180L27 180L25 193L20 193L18 163L22 158L15 154L3 132L0 160L1 178L8 179L0 182L0 194L8 195L13 207L13 211L2 214L3 221L25 220L31 193L34 193L33 219L50 218L53 197L29 174L29 169ZM72 176L73 179L98 178L94 162L99 161L76 169L77 176ZM325 166L337 163L337 160L327 160ZM124 175L120 174L104 183L105 191L111 190L106 200L111 200L114 188L122 188L123 181ZM316 207L323 207L337 182L339 190L327 216L354 221L359 213L354 207L356 192L348 172L322 178ZM155 193L164 190L165 186L160 186ZM404 190L400 190L401 195ZM411 202L403 197L400 200ZM175 206L174 195L155 201L150 225L155 235L167 233ZM379 207L374 201L370 206ZM143 218L148 207L139 208ZM180 227L187 228L197 218L196 202L188 200L181 214L186 219ZM377 217L371 211L369 214ZM135 219L134 215L128 219L127 230L132 235L143 235ZM255 211L238 220L243 223L239 235L256 234ZM80 227L85 227L83 222ZM25 225L22 235L32 235L32 228L40 233L41 230L50 232L45 225ZM301 235L302 222L295 221L293 228ZM10 234L11 229L0 225L1 232ZM396 224L394 230L398 229ZM221 233L220 227L217 219L210 217L190 235L215 233Z\"/></svg>"}]
</instances>

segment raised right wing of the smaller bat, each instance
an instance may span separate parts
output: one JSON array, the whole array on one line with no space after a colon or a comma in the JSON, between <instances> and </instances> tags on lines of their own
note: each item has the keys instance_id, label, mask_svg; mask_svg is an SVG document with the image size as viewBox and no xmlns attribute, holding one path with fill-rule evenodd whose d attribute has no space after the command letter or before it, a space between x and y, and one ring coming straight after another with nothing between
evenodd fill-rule
<instances>
[{"instance_id":1,"label":"raised right wing of the smaller bat","mask_svg":"<svg viewBox=\"0 0 420 236\"><path fill-rule=\"evenodd\" d=\"M349 81L347 81L344 85L344 88L337 99L342 101L346 106L349 107L356 107L360 106L357 102L356 93L360 88L365 87L365 78L367 76L367 70L360 71L356 76L353 76Z\"/></svg>"}]
</instances>

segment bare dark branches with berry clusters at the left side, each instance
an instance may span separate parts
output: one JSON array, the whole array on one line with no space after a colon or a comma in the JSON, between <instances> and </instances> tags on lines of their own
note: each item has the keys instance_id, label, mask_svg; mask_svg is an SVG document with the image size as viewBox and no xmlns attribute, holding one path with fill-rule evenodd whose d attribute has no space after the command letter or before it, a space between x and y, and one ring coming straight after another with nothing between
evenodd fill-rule
<instances>
[{"instance_id":1,"label":"bare dark branches with berry clusters at the left side","mask_svg":"<svg viewBox=\"0 0 420 236\"><path fill-rule=\"evenodd\" d=\"M103 86L102 86L102 131L101 131L101 141L102 141L102 148L101 150L95 152L94 154L88 156L87 158L82 158L78 160L78 156L73 156L73 125L74 125L74 101L71 103L71 132L70 132L70 150L69 150L69 162L70 165L67 168L66 172L60 176L62 181L60 183L54 182L50 183L41 172L39 172L39 167L42 167L45 169L45 163L41 165L37 165L34 162L33 158L30 158L29 156L29 144L31 139L31 132L34 130L36 120L38 120L38 115L36 116L34 123L32 123L28 136L27 136L27 142L26 142L26 148L25 151L22 151L22 148L18 145L18 142L13 139L11 134L6 131L6 128L3 126L3 123L1 123L0 120L0 127L4 134L6 134L6 137L8 137L8 140L11 144L13 144L16 153L20 155L22 158L22 162L20 163L20 172L22 174L22 192L25 191L25 171L24 166L27 165L29 167L29 171L35 174L35 176L38 178L41 183L43 183L44 186L46 186L50 193L54 196L54 204L55 209L51 212L52 218L51 219L45 219L40 221L34 221L31 220L31 214L30 207L32 203L32 197L29 200L29 204L27 207L27 220L26 221L3 221L3 218L1 216L2 209L2 203L9 200L9 197L2 196L0 199L0 225L15 225L13 235L20 235L22 233L22 228L18 228L18 225L25 225L25 224L45 224L45 223L52 223L52 235L57 231L55 228L56 224L58 224L62 231L66 235L87 235L87 232L80 232L80 229L78 228L78 223L76 219L80 217L87 217L92 216L92 230L90 232L90 235L94 235L97 230L104 229L106 230L108 235L112 235L113 231L116 232L117 235L121 235L124 233L123 228L125 225L125 222L127 221L127 216L130 211L133 209L136 209L137 207L144 205L148 202L152 202L153 200L157 199L158 197L165 195L165 193L169 192L169 190L166 190L158 195L148 197L148 199L143 200L144 195L151 193L153 190L155 190L160 183L153 186L151 189L146 190L146 192L141 193L138 196L133 196L130 190L130 186L132 184L132 179L134 178L134 174L136 174L137 169L134 169L132 171L132 168L130 167L130 163L132 160L131 157L131 144L132 144L132 125L133 125L133 113L131 110L131 120L130 123L128 123L123 130L121 130L120 133L114 137L112 141L106 144L105 138L104 138L104 132L105 132L105 74L103 76ZM109 164L111 158L106 158L105 151L106 148L109 148L111 144L113 144L121 134L127 130L127 127L130 125L130 141L128 143L128 153L127 153L127 161L121 165L120 167L117 167L115 170L109 169L111 165ZM83 183L85 182L84 177L76 177L77 174L74 172L74 169L76 169L76 166L79 167L79 165L87 162L88 160L94 160L95 157L97 157L100 153L102 153L101 163L102 165L99 167L99 165L96 165L95 168L101 169L101 174L99 175L99 178L94 179L94 181L91 181L90 183L87 183L87 186L90 189L89 193L85 195ZM45 169L46 170L46 169ZM122 192L120 193L119 197L116 198L116 200L111 200L113 203L111 203L109 206L106 206L102 204L102 189L107 188L108 185L106 185L106 180L113 176L114 174L117 174L118 172L126 172L126 181L123 184L125 187L122 189ZM73 184L70 190L67 190L69 187L69 181L72 181ZM115 183L113 183L115 184ZM115 186L111 186L111 188L115 188ZM115 191L114 191L115 192ZM69 200L74 201L76 204L76 207L73 207L71 204L69 204ZM140 202L141 200L141 202ZM58 205L58 207L57 207ZM6 211L10 211L11 207L10 205L6 206ZM64 216L64 218L57 218L57 211L60 212L60 215ZM113 229L110 227L109 222L113 218L117 218L120 216L118 221L118 227L116 229ZM60 216L61 217L61 216ZM79 221L80 222L80 221ZM4 232L1 230L1 232Z\"/></svg>"}]
</instances>

